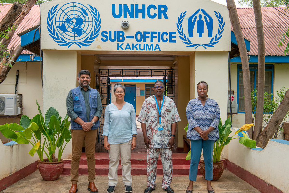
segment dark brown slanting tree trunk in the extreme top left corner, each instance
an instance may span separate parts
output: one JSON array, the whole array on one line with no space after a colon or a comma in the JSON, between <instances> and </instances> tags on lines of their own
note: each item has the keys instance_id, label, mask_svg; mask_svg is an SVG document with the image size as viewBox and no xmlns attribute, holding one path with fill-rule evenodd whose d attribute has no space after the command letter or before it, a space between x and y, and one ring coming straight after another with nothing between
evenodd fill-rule
<instances>
[{"instance_id":1,"label":"dark brown slanting tree trunk in the extreme top left corner","mask_svg":"<svg viewBox=\"0 0 289 193\"><path fill-rule=\"evenodd\" d=\"M21 12L23 5L18 2L15 2L4 18L0 22L0 31L5 31L8 27L12 27L13 23L17 19L18 15ZM0 39L1 40L1 39Z\"/></svg>"}]
</instances>

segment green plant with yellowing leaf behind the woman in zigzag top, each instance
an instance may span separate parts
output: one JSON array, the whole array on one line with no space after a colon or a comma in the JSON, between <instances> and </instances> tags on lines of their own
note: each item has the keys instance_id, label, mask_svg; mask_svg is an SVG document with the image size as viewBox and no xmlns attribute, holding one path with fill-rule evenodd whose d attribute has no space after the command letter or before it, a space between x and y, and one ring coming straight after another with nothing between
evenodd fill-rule
<instances>
[{"instance_id":1,"label":"green plant with yellowing leaf behind the woman in zigzag top","mask_svg":"<svg viewBox=\"0 0 289 193\"><path fill-rule=\"evenodd\" d=\"M218 125L220 138L214 143L213 162L220 162L221 154L225 145L229 144L229 142L233 139L239 139L239 143L243 144L246 147L256 148L256 141L250 139L247 133L245 132L248 131L253 126L253 124L243 125L238 131L235 132L235 134L232 137L229 137L229 135L232 132L231 125L232 123L230 117L225 121L224 125L222 125L222 120L220 118L220 122ZM185 131L188 131L188 125L184 129ZM240 137L238 136L239 133L241 133ZM191 159L191 151L189 151L186 157L186 160L190 159Z\"/></svg>"}]
</instances>

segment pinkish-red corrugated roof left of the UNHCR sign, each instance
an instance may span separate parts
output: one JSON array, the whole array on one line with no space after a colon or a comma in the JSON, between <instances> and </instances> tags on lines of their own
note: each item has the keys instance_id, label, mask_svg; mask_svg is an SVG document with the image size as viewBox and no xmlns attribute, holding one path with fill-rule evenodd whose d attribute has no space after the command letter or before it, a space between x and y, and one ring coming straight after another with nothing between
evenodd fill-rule
<instances>
[{"instance_id":1,"label":"pinkish-red corrugated roof left of the UNHCR sign","mask_svg":"<svg viewBox=\"0 0 289 193\"><path fill-rule=\"evenodd\" d=\"M9 11L11 7L12 7L12 3L0 4L0 21L7 14L7 12ZM34 27L39 23L40 23L39 5L34 5L32 9L30 10L30 12L27 14L27 16L20 23L18 28L16 29L16 32L14 36L12 37L10 44L8 45L8 49L10 49L12 46L17 47L20 44L20 37L17 34L31 27ZM22 54L32 54L32 52L24 50Z\"/></svg>"}]
</instances>

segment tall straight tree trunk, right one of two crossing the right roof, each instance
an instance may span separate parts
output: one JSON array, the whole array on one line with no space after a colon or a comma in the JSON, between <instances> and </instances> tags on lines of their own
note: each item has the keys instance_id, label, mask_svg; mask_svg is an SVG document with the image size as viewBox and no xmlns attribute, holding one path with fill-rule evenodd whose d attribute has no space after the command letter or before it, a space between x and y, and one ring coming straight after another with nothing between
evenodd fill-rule
<instances>
[{"instance_id":1,"label":"tall straight tree trunk, right one of two crossing the right roof","mask_svg":"<svg viewBox=\"0 0 289 193\"><path fill-rule=\"evenodd\" d=\"M253 131L253 139L256 140L263 127L264 89L265 89L265 43L260 0L253 0L255 23L258 40L258 92L256 119Z\"/></svg>"}]
</instances>

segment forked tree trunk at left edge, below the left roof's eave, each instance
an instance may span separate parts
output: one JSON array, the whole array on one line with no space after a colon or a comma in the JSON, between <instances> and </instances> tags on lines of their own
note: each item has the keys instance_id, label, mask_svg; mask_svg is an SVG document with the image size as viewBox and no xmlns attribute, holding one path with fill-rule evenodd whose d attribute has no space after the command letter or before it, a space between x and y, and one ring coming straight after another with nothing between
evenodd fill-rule
<instances>
[{"instance_id":1,"label":"forked tree trunk at left edge, below the left roof's eave","mask_svg":"<svg viewBox=\"0 0 289 193\"><path fill-rule=\"evenodd\" d=\"M16 49L12 49L11 50L11 55L12 57L10 58L10 62L9 64L11 66L13 66L15 64L14 61L17 60L17 58L20 56L20 54L22 53L24 49L21 47L21 45L19 44L18 47ZM3 60L0 62L0 84L6 79L7 74L9 72L9 70L11 69L10 65L4 65L7 64L8 61L6 60L6 58L3 58Z\"/></svg>"}]
</instances>

